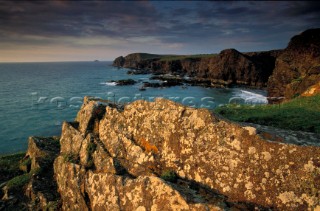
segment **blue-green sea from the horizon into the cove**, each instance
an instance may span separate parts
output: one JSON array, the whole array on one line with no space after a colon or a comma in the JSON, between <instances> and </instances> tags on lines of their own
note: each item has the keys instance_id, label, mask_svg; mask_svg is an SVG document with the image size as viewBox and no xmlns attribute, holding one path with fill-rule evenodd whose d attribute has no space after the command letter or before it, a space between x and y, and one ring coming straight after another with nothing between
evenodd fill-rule
<instances>
[{"instance_id":1,"label":"blue-green sea from the horizon into the cove","mask_svg":"<svg viewBox=\"0 0 320 211\"><path fill-rule=\"evenodd\" d=\"M29 136L60 135L63 121L72 121L84 96L127 103L163 97L213 109L228 103L266 103L266 92L243 88L176 86L140 91L150 75L127 75L111 62L0 64L0 155L27 149ZM132 86L111 80L132 78Z\"/></svg>"}]
</instances>

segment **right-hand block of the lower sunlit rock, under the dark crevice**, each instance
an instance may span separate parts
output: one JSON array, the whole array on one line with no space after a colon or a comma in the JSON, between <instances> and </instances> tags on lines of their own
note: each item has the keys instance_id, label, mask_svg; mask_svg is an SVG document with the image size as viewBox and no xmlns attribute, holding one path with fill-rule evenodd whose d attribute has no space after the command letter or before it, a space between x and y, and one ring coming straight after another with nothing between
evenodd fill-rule
<instances>
[{"instance_id":1,"label":"right-hand block of the lower sunlit rock, under the dark crevice","mask_svg":"<svg viewBox=\"0 0 320 211\"><path fill-rule=\"evenodd\" d=\"M201 201L188 203L185 196L154 176L130 179L90 171L87 178L93 210L222 210Z\"/></svg>"}]
</instances>

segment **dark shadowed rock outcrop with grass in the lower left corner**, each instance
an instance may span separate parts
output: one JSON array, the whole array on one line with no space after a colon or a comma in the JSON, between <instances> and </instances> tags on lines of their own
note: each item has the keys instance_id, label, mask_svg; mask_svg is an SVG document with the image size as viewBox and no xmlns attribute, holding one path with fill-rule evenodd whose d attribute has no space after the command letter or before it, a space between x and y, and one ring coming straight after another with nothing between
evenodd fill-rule
<instances>
[{"instance_id":1,"label":"dark shadowed rock outcrop with grass in the lower left corner","mask_svg":"<svg viewBox=\"0 0 320 211\"><path fill-rule=\"evenodd\" d=\"M53 172L59 152L58 137L30 137L20 162L25 173L2 184L0 210L59 210L60 194Z\"/></svg>"}]
</instances>

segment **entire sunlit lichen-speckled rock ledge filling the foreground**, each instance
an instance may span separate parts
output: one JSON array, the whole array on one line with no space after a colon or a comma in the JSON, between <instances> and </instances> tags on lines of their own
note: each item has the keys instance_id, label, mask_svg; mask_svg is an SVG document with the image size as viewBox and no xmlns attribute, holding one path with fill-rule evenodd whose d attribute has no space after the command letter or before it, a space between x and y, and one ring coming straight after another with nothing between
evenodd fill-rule
<instances>
[{"instance_id":1,"label":"entire sunlit lichen-speckled rock ledge filling the foreground","mask_svg":"<svg viewBox=\"0 0 320 211\"><path fill-rule=\"evenodd\" d=\"M46 140L54 147L29 139L28 171L46 160L54 171L42 184L60 199L30 182L41 209L57 200L62 210L320 210L319 147L271 142L205 109L86 97L63 123L60 152Z\"/></svg>"}]
</instances>

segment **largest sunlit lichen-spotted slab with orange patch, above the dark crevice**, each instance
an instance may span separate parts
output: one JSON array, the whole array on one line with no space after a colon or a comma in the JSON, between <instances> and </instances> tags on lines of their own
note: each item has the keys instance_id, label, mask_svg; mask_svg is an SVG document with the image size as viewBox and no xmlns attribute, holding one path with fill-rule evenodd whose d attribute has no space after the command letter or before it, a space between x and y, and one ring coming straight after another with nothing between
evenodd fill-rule
<instances>
[{"instance_id":1,"label":"largest sunlit lichen-spotted slab with orange patch, above the dark crevice","mask_svg":"<svg viewBox=\"0 0 320 211\"><path fill-rule=\"evenodd\" d=\"M267 142L207 110L167 100L136 101L106 114L100 139L113 156L130 161L122 164L134 176L173 169L232 200L297 210L319 204L317 147ZM286 200L288 192L295 198Z\"/></svg>"}]
</instances>

